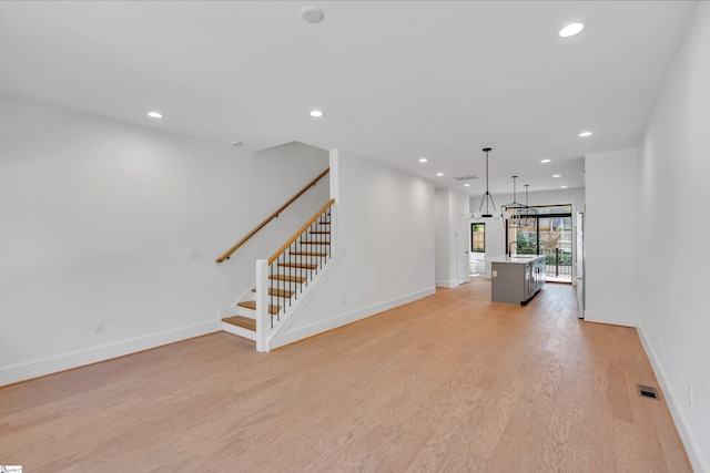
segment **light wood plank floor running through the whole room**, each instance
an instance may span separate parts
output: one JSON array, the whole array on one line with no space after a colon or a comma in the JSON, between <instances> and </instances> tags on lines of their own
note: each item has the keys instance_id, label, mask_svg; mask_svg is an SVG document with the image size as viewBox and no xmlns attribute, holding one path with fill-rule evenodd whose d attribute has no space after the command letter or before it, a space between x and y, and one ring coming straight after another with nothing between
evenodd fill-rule
<instances>
[{"instance_id":1,"label":"light wood plank floor running through the whole room","mask_svg":"<svg viewBox=\"0 0 710 473\"><path fill-rule=\"evenodd\" d=\"M691 471L635 329L483 279L260 354L220 332L0 389L28 472Z\"/></svg>"}]
</instances>

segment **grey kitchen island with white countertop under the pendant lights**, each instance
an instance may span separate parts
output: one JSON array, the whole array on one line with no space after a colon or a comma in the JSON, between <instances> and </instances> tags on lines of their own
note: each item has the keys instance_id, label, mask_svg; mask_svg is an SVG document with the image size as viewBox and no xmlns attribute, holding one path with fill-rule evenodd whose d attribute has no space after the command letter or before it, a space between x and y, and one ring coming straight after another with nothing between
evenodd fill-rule
<instances>
[{"instance_id":1,"label":"grey kitchen island with white countertop under the pendant lights","mask_svg":"<svg viewBox=\"0 0 710 473\"><path fill-rule=\"evenodd\" d=\"M545 285L545 255L494 256L489 259L490 300L525 306Z\"/></svg>"}]
</instances>

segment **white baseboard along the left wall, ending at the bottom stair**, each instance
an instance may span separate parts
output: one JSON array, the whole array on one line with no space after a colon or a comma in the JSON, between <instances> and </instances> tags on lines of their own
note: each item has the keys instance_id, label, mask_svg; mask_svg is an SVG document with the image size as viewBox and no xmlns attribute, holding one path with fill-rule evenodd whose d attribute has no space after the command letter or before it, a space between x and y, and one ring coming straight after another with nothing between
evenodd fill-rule
<instances>
[{"instance_id":1,"label":"white baseboard along the left wall, ending at the bottom stair","mask_svg":"<svg viewBox=\"0 0 710 473\"><path fill-rule=\"evenodd\" d=\"M0 387L200 337L221 329L221 320L211 320L8 364L0 367Z\"/></svg>"}]
</instances>

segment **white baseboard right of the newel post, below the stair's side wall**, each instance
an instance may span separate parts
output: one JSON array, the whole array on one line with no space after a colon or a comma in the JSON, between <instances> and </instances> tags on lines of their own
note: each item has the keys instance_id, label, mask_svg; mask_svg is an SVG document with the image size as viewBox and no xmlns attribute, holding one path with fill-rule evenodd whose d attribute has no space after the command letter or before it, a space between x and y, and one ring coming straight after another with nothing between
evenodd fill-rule
<instances>
[{"instance_id":1,"label":"white baseboard right of the newel post, below the stair's side wall","mask_svg":"<svg viewBox=\"0 0 710 473\"><path fill-rule=\"evenodd\" d=\"M285 332L281 333L281 337L277 337L270 342L270 349L275 349L290 343L294 343L298 340L303 340L305 338L356 322L367 317L384 312L385 310L394 309L395 307L414 302L415 300L423 299L434 294L436 294L436 287L433 286L400 297L395 297L389 300L374 304L362 309L353 310L351 312L341 313L305 326L287 329Z\"/></svg>"}]
</instances>

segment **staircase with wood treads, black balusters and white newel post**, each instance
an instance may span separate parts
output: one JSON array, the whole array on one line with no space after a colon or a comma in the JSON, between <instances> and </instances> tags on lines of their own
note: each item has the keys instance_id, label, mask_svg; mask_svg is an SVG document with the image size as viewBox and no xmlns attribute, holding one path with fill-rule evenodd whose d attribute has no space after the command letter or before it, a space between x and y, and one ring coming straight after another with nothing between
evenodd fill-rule
<instances>
[{"instance_id":1,"label":"staircase with wood treads, black balusters and white newel post","mask_svg":"<svg viewBox=\"0 0 710 473\"><path fill-rule=\"evenodd\" d=\"M236 302L236 315L222 318L222 330L254 340L257 351L268 351L270 337L331 259L334 202L318 210L268 260L256 261L256 285Z\"/></svg>"}]
</instances>

